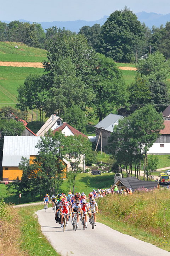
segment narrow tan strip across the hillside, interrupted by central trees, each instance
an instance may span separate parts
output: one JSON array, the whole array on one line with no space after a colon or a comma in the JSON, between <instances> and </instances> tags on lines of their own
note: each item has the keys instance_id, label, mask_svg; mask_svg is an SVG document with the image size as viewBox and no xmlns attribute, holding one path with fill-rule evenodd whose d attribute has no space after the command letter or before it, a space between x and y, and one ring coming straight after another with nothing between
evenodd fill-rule
<instances>
[{"instance_id":1,"label":"narrow tan strip across the hillside, interrupted by central trees","mask_svg":"<svg viewBox=\"0 0 170 256\"><path fill-rule=\"evenodd\" d=\"M16 66L16 67L31 67L31 68L43 68L41 62L0 62L0 66ZM136 70L133 67L118 67L122 70Z\"/></svg>"}]
</instances>

